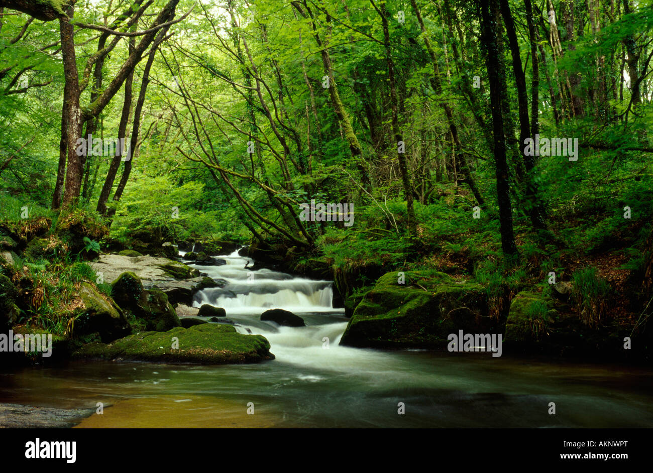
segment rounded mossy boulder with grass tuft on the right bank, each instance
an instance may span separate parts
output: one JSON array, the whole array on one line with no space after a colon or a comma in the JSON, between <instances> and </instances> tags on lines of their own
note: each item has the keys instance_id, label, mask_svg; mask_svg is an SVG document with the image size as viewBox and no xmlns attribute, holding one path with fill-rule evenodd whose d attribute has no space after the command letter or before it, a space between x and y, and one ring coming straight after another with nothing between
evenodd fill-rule
<instances>
[{"instance_id":1,"label":"rounded mossy boulder with grass tuft on the right bank","mask_svg":"<svg viewBox=\"0 0 653 473\"><path fill-rule=\"evenodd\" d=\"M552 301L539 292L522 291L510 304L503 340L513 346L547 339L556 318Z\"/></svg>"}]
</instances>

